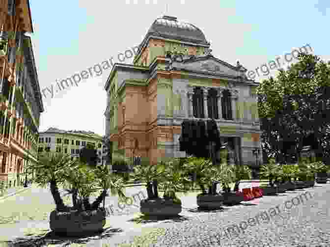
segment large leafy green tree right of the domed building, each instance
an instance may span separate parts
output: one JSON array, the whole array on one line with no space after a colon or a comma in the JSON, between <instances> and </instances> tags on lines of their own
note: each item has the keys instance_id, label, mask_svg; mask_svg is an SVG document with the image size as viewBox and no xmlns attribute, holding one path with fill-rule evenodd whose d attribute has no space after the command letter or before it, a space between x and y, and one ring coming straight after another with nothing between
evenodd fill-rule
<instances>
[{"instance_id":1,"label":"large leafy green tree right of the domed building","mask_svg":"<svg viewBox=\"0 0 330 247\"><path fill-rule=\"evenodd\" d=\"M300 54L299 62L257 89L262 147L279 163L298 159L312 138L317 157L330 153L330 62Z\"/></svg>"}]
</instances>

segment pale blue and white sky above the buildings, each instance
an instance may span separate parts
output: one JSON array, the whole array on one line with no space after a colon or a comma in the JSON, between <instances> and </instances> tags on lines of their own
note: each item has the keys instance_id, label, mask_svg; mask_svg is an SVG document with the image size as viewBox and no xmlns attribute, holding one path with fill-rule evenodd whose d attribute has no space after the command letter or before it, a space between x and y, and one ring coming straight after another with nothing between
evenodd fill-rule
<instances>
[{"instance_id":1,"label":"pale blue and white sky above the buildings","mask_svg":"<svg viewBox=\"0 0 330 247\"><path fill-rule=\"evenodd\" d=\"M329 0L30 0L31 35L40 89L141 43L152 23L175 16L200 28L212 55L247 70L309 44L330 60ZM132 63L126 59L124 63ZM111 68L43 97L39 131L50 127L105 135ZM271 75L275 76L276 70ZM268 76L268 77L269 77ZM261 82L267 76L256 77Z\"/></svg>"}]
</instances>

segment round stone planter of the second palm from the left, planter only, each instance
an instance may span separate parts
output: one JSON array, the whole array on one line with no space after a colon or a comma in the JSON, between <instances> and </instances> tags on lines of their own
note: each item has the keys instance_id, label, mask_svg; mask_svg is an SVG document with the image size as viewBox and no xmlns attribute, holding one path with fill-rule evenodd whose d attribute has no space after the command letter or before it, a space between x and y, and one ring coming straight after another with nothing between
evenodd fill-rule
<instances>
[{"instance_id":1,"label":"round stone planter of the second palm from the left, planter only","mask_svg":"<svg viewBox=\"0 0 330 247\"><path fill-rule=\"evenodd\" d=\"M164 198L152 200L143 199L140 202L141 214L146 216L177 216L182 211L181 203L174 202Z\"/></svg>"}]
</instances>

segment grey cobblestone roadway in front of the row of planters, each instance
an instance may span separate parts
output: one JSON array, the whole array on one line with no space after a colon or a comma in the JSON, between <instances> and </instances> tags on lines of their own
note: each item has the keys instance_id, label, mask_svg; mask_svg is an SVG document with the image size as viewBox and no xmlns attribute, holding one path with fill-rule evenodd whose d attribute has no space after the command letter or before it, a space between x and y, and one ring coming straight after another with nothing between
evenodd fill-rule
<instances>
[{"instance_id":1,"label":"grey cobblestone roadway in front of the row of planters","mask_svg":"<svg viewBox=\"0 0 330 247\"><path fill-rule=\"evenodd\" d=\"M310 192L312 197L302 200L303 195L308 194L305 192ZM181 213L184 217L177 222L158 223L153 225L154 229L143 227L117 239L102 240L102 244L120 247L330 247L330 184L257 200L257 203L252 200L207 213L185 209ZM242 224L276 206L279 214L269 219L260 218L260 223L253 226ZM241 229L231 228L225 234L227 227L233 224L240 225ZM241 232L236 234L237 230L233 229ZM98 246L101 247L101 243Z\"/></svg>"}]
</instances>

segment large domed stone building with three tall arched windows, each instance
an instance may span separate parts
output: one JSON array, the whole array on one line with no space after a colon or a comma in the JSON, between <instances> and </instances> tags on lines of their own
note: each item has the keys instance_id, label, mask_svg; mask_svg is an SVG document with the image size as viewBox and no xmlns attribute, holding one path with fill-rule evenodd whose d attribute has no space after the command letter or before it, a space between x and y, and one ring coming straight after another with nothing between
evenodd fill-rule
<instances>
[{"instance_id":1,"label":"large domed stone building with three tall arched windows","mask_svg":"<svg viewBox=\"0 0 330 247\"><path fill-rule=\"evenodd\" d=\"M198 27L163 16L152 23L133 64L114 64L105 85L113 152L151 164L185 157L179 150L183 120L213 118L235 163L261 164L258 83L239 62L214 57L210 46Z\"/></svg>"}]
</instances>

